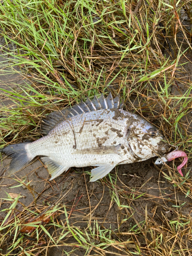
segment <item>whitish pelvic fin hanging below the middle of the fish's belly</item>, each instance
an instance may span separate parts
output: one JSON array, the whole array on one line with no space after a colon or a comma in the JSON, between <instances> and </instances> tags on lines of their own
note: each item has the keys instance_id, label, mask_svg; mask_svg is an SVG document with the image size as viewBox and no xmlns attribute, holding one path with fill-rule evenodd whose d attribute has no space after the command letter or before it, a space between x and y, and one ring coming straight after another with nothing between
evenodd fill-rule
<instances>
[{"instance_id":1,"label":"whitish pelvic fin hanging below the middle of the fish's belly","mask_svg":"<svg viewBox=\"0 0 192 256\"><path fill-rule=\"evenodd\" d=\"M115 164L103 164L103 165L99 165L95 169L92 169L91 171L92 178L90 181L96 181L98 179L103 178L104 176L109 174L114 167L115 167Z\"/></svg>"}]
</instances>

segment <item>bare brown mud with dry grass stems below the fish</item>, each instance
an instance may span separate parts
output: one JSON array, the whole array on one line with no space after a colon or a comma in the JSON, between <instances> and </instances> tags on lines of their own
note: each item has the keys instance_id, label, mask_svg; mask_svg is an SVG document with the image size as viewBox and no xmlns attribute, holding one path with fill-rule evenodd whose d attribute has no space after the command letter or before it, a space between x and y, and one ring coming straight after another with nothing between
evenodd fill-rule
<instances>
[{"instance_id":1,"label":"bare brown mud with dry grass stems below the fish","mask_svg":"<svg viewBox=\"0 0 192 256\"><path fill-rule=\"evenodd\" d=\"M9 158L3 161L1 174L9 163ZM163 174L154 166L154 159L119 165L113 169L111 172L113 189L109 176L97 182L89 182L90 173L88 170L90 167L71 168L66 174L60 175L54 181L49 181L50 177L46 168L37 159L22 171L17 172L15 176L1 179L1 209L9 208L11 205L11 202L6 200L7 193L24 196L19 199L19 203L15 207L15 214L17 211L23 211L23 220L21 221L24 221L29 215L29 212L25 211L25 207L31 206L32 211L39 209L40 212L43 206L53 204L58 201L59 197L64 196L60 203L61 205L65 204L67 208L70 226L80 227L83 230L88 227L88 223L93 228L97 222L103 229L111 230L111 236L114 240L120 239L121 241L133 239L133 229L136 229L138 223L142 225L146 220L146 211L148 222L151 221L156 225L162 225L166 219L174 220L176 214L173 205L178 203L187 201L181 209L177 209L179 215L190 214L191 200L185 198L181 190L174 188L163 177ZM167 170L165 173L169 175ZM117 174L118 176L116 176ZM17 187L20 184L18 181L23 182L23 185ZM114 194L116 194L116 200L119 198L120 205L126 205L127 208L121 207L116 203L116 200L112 200ZM6 214L6 211L1 212L1 221ZM65 215L60 214L59 220L65 223ZM58 232L57 235L59 234L59 231L56 230L55 232ZM11 241L10 238L10 243ZM75 243L76 241L74 238L69 238L67 242ZM140 236L138 242L141 246L142 244L145 245L143 235ZM3 247L4 253L6 247L6 245ZM189 247L192 248L190 242ZM67 255L63 251L67 253L71 251L71 247L50 247L47 255ZM115 254L121 253L118 250L114 251L114 248L112 251ZM135 251L134 248L132 251ZM15 250L14 253L16 255L17 251ZM74 252L70 255L87 255L85 253L85 250L78 250L77 253ZM95 255L95 252L90 252L90 255L92 254ZM142 255L145 255L144 251Z\"/></svg>"}]
</instances>

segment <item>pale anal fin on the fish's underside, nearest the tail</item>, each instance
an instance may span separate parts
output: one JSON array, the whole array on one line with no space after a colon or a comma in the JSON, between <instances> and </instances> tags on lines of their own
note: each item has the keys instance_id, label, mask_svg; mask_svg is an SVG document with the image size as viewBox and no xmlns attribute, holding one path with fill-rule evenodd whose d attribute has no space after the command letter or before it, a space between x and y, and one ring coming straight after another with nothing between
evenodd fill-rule
<instances>
[{"instance_id":1,"label":"pale anal fin on the fish's underside, nearest the tail","mask_svg":"<svg viewBox=\"0 0 192 256\"><path fill-rule=\"evenodd\" d=\"M54 162L49 157L41 157L41 160L47 165L49 174L51 175L50 180L55 179L57 176L59 176L63 172L67 172L67 170L70 168L70 166L63 166Z\"/></svg>"}]
</instances>

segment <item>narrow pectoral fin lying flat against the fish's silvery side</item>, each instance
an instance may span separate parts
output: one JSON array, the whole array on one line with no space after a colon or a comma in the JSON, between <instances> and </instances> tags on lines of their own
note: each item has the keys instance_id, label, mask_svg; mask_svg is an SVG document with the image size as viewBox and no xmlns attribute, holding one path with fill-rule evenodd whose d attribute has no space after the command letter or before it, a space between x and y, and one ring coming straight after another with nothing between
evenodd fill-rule
<instances>
[{"instance_id":1,"label":"narrow pectoral fin lying flat against the fish's silvery side","mask_svg":"<svg viewBox=\"0 0 192 256\"><path fill-rule=\"evenodd\" d=\"M84 150L76 150L72 154L88 154L88 155L108 155L108 154L119 154L118 150L121 144L117 146L98 146L91 148L84 148Z\"/></svg>"}]
</instances>

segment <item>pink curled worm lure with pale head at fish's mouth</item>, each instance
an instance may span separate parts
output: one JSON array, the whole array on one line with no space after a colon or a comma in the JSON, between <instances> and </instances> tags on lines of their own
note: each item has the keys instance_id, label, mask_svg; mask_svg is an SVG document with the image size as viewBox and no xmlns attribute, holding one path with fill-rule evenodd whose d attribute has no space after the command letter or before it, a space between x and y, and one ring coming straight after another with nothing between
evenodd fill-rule
<instances>
[{"instance_id":1,"label":"pink curled worm lure with pale head at fish's mouth","mask_svg":"<svg viewBox=\"0 0 192 256\"><path fill-rule=\"evenodd\" d=\"M157 158L157 160L155 161L155 164L163 164L166 163L167 161L172 161L178 157L184 157L182 164L180 164L177 167L178 172L180 173L181 176L183 176L182 172L181 172L181 168L187 163L187 155L184 151L172 151L170 153L168 153L167 155L164 155L161 158Z\"/></svg>"}]
</instances>

